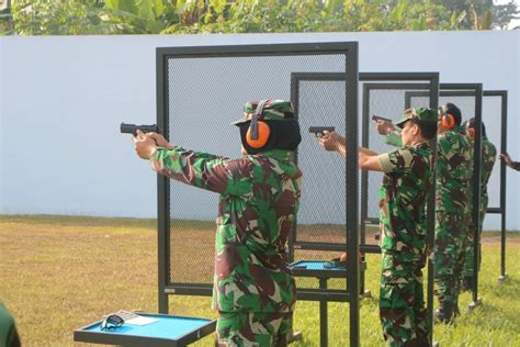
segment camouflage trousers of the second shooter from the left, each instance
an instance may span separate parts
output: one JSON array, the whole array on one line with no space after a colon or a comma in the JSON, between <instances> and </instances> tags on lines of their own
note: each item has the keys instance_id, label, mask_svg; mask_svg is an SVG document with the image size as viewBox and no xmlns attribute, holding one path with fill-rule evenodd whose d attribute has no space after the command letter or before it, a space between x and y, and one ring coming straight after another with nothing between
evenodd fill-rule
<instances>
[{"instance_id":1,"label":"camouflage trousers of the second shooter from the left","mask_svg":"<svg viewBox=\"0 0 520 347\"><path fill-rule=\"evenodd\" d=\"M380 318L389 346L429 346L422 293L423 261L403 261L383 249Z\"/></svg>"}]
</instances>

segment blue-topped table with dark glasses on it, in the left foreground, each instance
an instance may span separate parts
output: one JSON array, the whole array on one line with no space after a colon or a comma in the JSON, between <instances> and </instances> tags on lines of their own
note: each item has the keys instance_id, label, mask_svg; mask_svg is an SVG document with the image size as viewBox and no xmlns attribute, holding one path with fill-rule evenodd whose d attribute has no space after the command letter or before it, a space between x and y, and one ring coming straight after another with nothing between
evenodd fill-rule
<instances>
[{"instance_id":1,"label":"blue-topped table with dark glasses on it, in the left foreground","mask_svg":"<svg viewBox=\"0 0 520 347\"><path fill-rule=\"evenodd\" d=\"M171 316L165 314L138 313L159 320L147 325L129 325L111 331L101 331L98 321L74 332L75 342L127 346L185 346L213 333L216 321Z\"/></svg>"}]
</instances>

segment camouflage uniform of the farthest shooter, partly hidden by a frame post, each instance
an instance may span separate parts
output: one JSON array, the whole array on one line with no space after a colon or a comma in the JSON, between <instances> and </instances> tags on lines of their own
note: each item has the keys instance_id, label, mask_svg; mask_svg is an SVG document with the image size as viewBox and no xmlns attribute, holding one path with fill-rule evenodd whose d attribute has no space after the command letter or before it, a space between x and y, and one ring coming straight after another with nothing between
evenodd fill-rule
<instances>
[{"instance_id":1,"label":"camouflage uniform of the farthest shooter, partly hidden by a frame post","mask_svg":"<svg viewBox=\"0 0 520 347\"><path fill-rule=\"evenodd\" d=\"M481 166L481 225L484 223L484 217L487 211L487 203L489 198L487 195L487 182L491 176L493 166L497 160L497 148L487 139L487 137L482 138L482 166ZM467 244L464 256L464 268L462 270L462 276L464 277L464 283L471 287L472 277L473 277L473 262L475 258L474 246L473 246L473 236L475 233L475 224L473 223L473 208L470 204L468 209L468 225L470 232L467 233Z\"/></svg>"}]
</instances>

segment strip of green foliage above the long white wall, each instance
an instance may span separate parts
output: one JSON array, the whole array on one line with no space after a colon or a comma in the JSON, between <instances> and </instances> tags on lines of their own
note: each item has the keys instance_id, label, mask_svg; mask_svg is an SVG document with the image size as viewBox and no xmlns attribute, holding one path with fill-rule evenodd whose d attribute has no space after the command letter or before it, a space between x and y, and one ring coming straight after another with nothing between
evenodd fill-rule
<instances>
[{"instance_id":1,"label":"strip of green foliage above the long white wall","mask_svg":"<svg viewBox=\"0 0 520 347\"><path fill-rule=\"evenodd\" d=\"M19 35L305 33L505 27L519 11L487 0L13 0Z\"/></svg>"}]
</instances>

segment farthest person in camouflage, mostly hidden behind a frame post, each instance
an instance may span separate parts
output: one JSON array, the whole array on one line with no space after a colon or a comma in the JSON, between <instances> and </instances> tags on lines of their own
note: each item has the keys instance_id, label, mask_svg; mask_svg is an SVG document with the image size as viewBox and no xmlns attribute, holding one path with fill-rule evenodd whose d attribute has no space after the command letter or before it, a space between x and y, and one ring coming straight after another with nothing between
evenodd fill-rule
<instances>
[{"instance_id":1,"label":"farthest person in camouflage, mostly hidden behind a frame post","mask_svg":"<svg viewBox=\"0 0 520 347\"><path fill-rule=\"evenodd\" d=\"M464 123L466 135L473 142L475 138L475 119L471 119ZM493 145L486 135L486 126L482 123L482 165L481 165L481 225L487 211L489 198L487 195L487 182L491 176L493 167L497 160L497 148ZM464 257L464 268L462 270L463 281L462 290L471 290L473 284L473 265L474 265L474 245L473 236L475 233L475 224L473 223L473 208L468 209L470 232L467 234L466 250ZM481 230L482 231L482 230ZM482 254L482 253L481 253ZM479 257L482 259L482 257Z\"/></svg>"}]
</instances>

